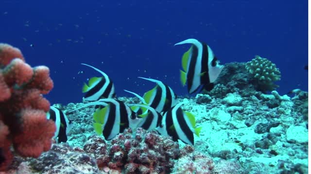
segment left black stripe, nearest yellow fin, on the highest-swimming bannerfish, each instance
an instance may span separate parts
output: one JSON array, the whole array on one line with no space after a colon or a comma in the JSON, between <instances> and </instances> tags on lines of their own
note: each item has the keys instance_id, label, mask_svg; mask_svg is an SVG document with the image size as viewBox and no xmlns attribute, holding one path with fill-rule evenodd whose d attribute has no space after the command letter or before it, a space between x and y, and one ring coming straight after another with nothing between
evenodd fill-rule
<instances>
[{"instance_id":1,"label":"left black stripe, nearest yellow fin, on the highest-swimming bannerfish","mask_svg":"<svg viewBox=\"0 0 311 174\"><path fill-rule=\"evenodd\" d=\"M187 72L187 87L188 87L188 91L190 91L192 84L193 84L193 76L194 76L194 72L195 72L195 64L197 61L197 57L198 57L198 48L194 45L192 46L192 50L191 50L191 58L190 58L190 64L189 64L189 69ZM196 90L196 89L195 89ZM195 92L195 90L193 92ZM192 93L193 93L192 92Z\"/></svg>"}]
</instances>

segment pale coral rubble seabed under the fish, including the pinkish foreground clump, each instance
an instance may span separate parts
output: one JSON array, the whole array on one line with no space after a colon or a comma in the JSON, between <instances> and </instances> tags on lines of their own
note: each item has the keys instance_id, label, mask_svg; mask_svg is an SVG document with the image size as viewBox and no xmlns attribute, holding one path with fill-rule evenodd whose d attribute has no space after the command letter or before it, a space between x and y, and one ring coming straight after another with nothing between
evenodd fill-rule
<instances>
[{"instance_id":1,"label":"pale coral rubble seabed under the fish, including the pinkish foreground clump","mask_svg":"<svg viewBox=\"0 0 311 174\"><path fill-rule=\"evenodd\" d=\"M276 91L271 94L255 91L253 94L243 96L234 91L223 99L206 94L180 99L184 102L183 110L193 113L197 126L202 126L200 137L195 136L194 146L173 142L170 137L142 129L137 130L136 136L128 129L113 140L105 141L87 127L95 109L85 108L68 115L69 119L75 120L76 128L69 134L68 141L73 147L52 145L52 150L44 152L39 159L15 157L10 171L23 169L35 174L42 171L78 174L308 173L308 122L302 113L306 108L301 106L307 101L308 93L301 91L293 98L281 96ZM135 102L136 99L123 100ZM80 105L70 103L62 108L72 110ZM51 164L53 160L54 165ZM61 162L64 165L59 165Z\"/></svg>"}]
</instances>

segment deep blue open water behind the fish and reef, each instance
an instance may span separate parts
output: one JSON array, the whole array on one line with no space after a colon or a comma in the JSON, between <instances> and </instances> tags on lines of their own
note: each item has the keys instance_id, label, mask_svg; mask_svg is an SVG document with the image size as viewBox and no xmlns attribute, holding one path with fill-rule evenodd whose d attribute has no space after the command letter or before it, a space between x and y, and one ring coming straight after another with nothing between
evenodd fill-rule
<instances>
[{"instance_id":1,"label":"deep blue open water behind the fish and reef","mask_svg":"<svg viewBox=\"0 0 311 174\"><path fill-rule=\"evenodd\" d=\"M308 89L307 0L2 0L0 5L0 42L20 48L30 65L50 68L54 88L46 97L52 103L82 101L83 82L100 76L82 62L107 73L117 96L131 96L123 89L142 95L154 87L138 76L158 78L178 95L187 94L179 69L189 45L173 44L189 38L209 44L222 63L255 55L270 59L281 71L281 94Z\"/></svg>"}]
</instances>

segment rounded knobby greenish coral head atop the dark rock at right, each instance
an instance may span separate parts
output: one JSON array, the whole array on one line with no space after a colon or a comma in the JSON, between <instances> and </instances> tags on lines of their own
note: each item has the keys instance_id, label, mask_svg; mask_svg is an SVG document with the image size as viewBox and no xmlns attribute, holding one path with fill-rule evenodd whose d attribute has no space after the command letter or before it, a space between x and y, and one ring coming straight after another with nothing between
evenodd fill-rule
<instances>
[{"instance_id":1,"label":"rounded knobby greenish coral head atop the dark rock at right","mask_svg":"<svg viewBox=\"0 0 311 174\"><path fill-rule=\"evenodd\" d=\"M276 64L267 58L256 56L251 61L246 62L245 68L249 73L254 74L262 91L272 91L278 87L274 82L281 79L281 73L276 68Z\"/></svg>"}]
</instances>

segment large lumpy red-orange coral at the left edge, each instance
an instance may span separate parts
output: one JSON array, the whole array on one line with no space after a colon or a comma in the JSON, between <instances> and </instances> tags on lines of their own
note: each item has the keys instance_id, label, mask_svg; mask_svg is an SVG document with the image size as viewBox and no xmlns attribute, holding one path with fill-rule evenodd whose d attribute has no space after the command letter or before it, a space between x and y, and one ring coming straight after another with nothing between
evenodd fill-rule
<instances>
[{"instance_id":1,"label":"large lumpy red-orange coral at the left edge","mask_svg":"<svg viewBox=\"0 0 311 174\"><path fill-rule=\"evenodd\" d=\"M47 120L50 102L42 94L53 87L46 66L32 68L18 48L0 43L0 171L14 151L37 158L51 148L55 124Z\"/></svg>"}]
</instances>

